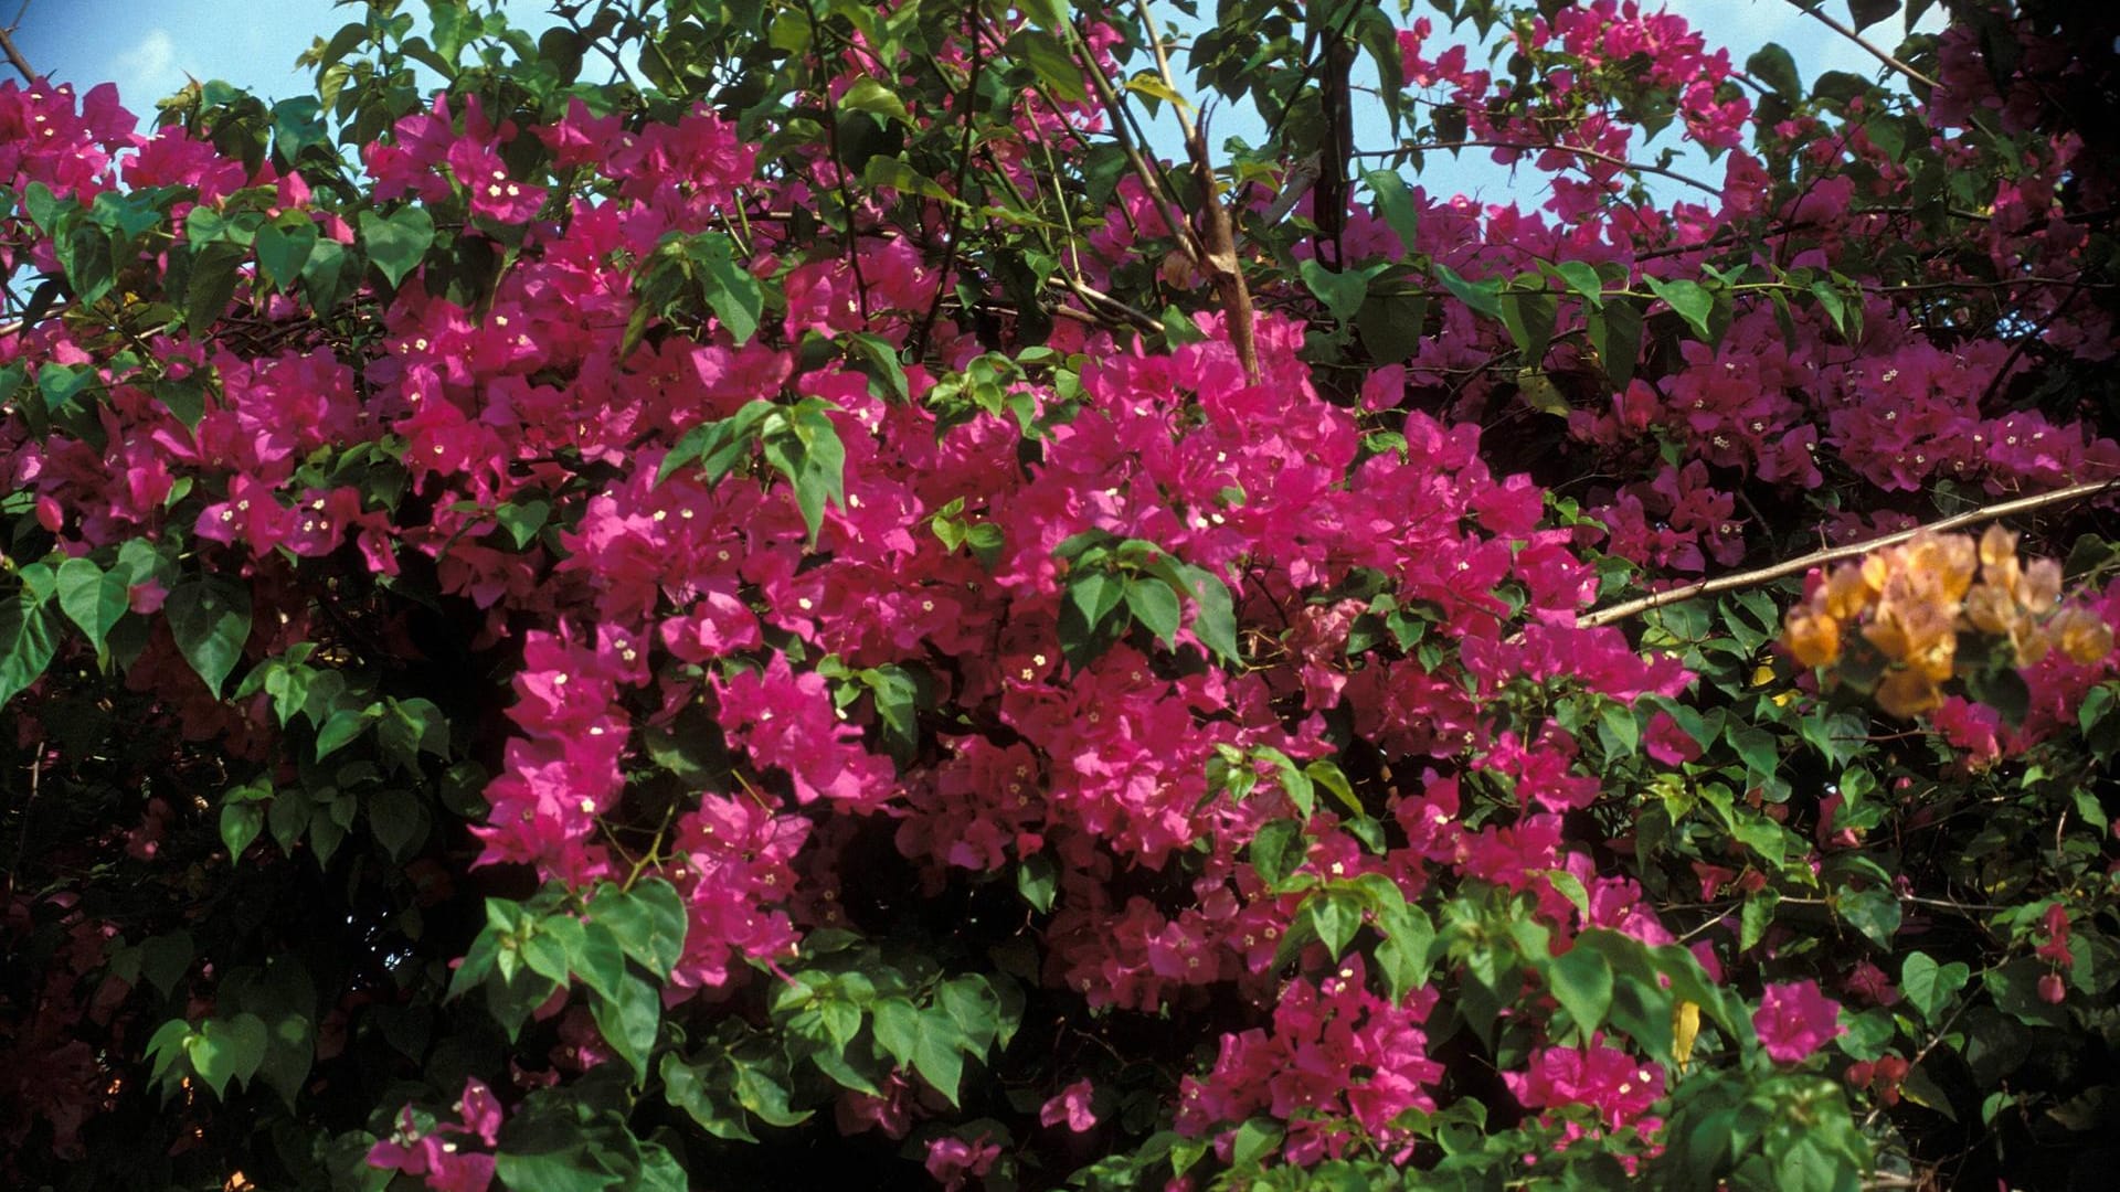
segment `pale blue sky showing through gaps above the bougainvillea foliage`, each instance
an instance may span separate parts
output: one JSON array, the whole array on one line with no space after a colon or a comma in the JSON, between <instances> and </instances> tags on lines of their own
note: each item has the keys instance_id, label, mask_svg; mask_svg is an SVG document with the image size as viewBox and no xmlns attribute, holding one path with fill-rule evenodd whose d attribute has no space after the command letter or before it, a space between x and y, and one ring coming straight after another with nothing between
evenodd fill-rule
<instances>
[{"instance_id":1,"label":"pale blue sky showing through gaps above the bougainvillea foliage","mask_svg":"<svg viewBox=\"0 0 2120 1192\"><path fill-rule=\"evenodd\" d=\"M0 15L11 15L6 11L15 2L0 0ZM407 0L405 8L418 13L424 4ZM1668 0L1668 8L1700 28L1709 45L1730 47L1738 66L1760 45L1777 40L1796 57L1806 83L1825 70L1876 74L1872 57L1787 0ZM507 11L524 28L549 23L543 0L511 0ZM1168 4L1162 11L1174 15ZM312 76L295 66L295 57L358 13L358 4L339 6L335 0L30 0L17 45L32 66L83 89L117 83L125 104L148 117L155 100L182 87L187 74L201 81L225 78L267 100L305 95ZM1931 15L1929 28L1933 21ZM1870 32L1876 40L1895 42L1897 17ZM1444 45L1444 38L1437 36L1431 45ZM1247 125L1236 115L1225 115L1217 119L1215 132L1247 136ZM1249 134L1247 140L1257 140L1255 127ZM1174 144L1174 132L1166 129L1166 136ZM1376 134L1357 140L1365 146L1382 144ZM1512 182L1505 170L1484 157L1467 151L1463 161L1450 163L1448 155L1431 155L1423 182L1437 193L1465 191L1488 201L1543 201L1543 193L1526 193L1529 174ZM1719 168L1702 163L1698 170L1707 180L1719 180ZM1685 197L1677 189L1658 191L1660 197Z\"/></svg>"}]
</instances>

